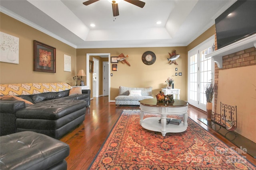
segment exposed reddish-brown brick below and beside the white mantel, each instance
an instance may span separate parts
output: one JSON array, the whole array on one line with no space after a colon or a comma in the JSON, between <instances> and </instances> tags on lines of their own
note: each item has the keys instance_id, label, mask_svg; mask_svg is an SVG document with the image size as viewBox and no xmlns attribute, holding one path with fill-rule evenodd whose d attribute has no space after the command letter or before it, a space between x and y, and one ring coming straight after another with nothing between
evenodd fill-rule
<instances>
[{"instance_id":1,"label":"exposed reddish-brown brick below and beside the white mantel","mask_svg":"<svg viewBox=\"0 0 256 170\"><path fill-rule=\"evenodd\" d=\"M217 47L216 33L215 33L215 50ZM236 53L225 55L222 57L222 68L218 68L215 63L215 73L214 73L214 84L215 84L215 93L214 93L214 110L216 111L217 107L217 98L218 98L218 79L219 79L219 70L237 68L244 66L256 65L256 48L251 47Z\"/></svg>"}]
</instances>

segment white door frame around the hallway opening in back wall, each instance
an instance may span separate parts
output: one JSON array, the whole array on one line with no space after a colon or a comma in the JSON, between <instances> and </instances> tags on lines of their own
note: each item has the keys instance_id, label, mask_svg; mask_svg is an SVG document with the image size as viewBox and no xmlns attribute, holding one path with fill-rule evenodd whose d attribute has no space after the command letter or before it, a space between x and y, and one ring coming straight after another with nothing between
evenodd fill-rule
<instances>
[{"instance_id":1,"label":"white door frame around the hallway opening in back wall","mask_svg":"<svg viewBox=\"0 0 256 170\"><path fill-rule=\"evenodd\" d=\"M90 60L90 56L107 56L108 57L108 61L110 61L110 53L86 53L86 86L90 86L90 83L93 81L89 76L90 72L89 72L89 60ZM95 64L94 64L95 66ZM108 72L110 72L110 67L108 67ZM110 93L110 74L108 74L108 92ZM96 88L99 88L96 86ZM92 87L90 86L90 89L92 90ZM110 95L108 95L108 102L110 102Z\"/></svg>"}]
</instances>

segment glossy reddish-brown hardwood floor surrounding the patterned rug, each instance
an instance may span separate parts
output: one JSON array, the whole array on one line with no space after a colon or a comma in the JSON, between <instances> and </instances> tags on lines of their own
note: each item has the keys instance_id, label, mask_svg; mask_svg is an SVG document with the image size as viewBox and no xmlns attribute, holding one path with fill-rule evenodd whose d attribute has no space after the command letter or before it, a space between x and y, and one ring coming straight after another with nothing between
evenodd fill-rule
<instances>
[{"instance_id":1,"label":"glossy reddish-brown hardwood floor surrounding the patterned rug","mask_svg":"<svg viewBox=\"0 0 256 170\"><path fill-rule=\"evenodd\" d=\"M60 139L70 146L70 154L66 158L68 170L88 169L123 109L139 109L139 106L116 107L115 103L108 102L108 96L91 100L91 105L86 110L82 125ZM238 149L222 135L198 120L198 118L206 118L206 113L188 106L188 116L229 147L234 147L234 150ZM242 156L256 165L256 158L249 154L242 154Z\"/></svg>"}]
</instances>

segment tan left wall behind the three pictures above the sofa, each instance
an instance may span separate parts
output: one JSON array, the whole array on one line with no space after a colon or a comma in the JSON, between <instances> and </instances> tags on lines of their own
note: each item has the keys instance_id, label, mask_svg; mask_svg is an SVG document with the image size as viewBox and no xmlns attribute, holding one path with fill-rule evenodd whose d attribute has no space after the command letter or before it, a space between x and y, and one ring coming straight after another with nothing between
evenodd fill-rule
<instances>
[{"instance_id":1,"label":"tan left wall behind the three pictures above the sofa","mask_svg":"<svg viewBox=\"0 0 256 170\"><path fill-rule=\"evenodd\" d=\"M0 31L19 38L19 64L0 62L0 83L67 82L74 85L76 49L20 21L0 13ZM56 73L33 71L33 41L56 48ZM71 56L71 72L64 71L64 54Z\"/></svg>"}]
</instances>

